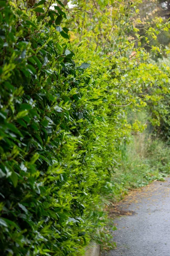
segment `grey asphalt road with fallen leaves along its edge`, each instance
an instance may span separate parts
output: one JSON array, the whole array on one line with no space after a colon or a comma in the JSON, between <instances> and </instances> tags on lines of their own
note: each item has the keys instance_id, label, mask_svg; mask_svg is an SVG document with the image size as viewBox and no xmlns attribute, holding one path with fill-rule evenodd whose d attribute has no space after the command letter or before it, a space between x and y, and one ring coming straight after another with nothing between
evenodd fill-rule
<instances>
[{"instance_id":1,"label":"grey asphalt road with fallen leaves along its edge","mask_svg":"<svg viewBox=\"0 0 170 256\"><path fill-rule=\"evenodd\" d=\"M117 248L102 256L170 256L170 178L130 192L117 212Z\"/></svg>"}]
</instances>

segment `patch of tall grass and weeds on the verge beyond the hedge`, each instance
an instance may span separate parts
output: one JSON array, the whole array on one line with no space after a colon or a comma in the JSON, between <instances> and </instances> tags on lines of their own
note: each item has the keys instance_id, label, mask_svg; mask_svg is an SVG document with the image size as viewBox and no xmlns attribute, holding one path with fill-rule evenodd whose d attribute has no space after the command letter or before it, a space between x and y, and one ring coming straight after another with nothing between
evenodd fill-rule
<instances>
[{"instance_id":1,"label":"patch of tall grass and weeds on the verge beyond the hedge","mask_svg":"<svg viewBox=\"0 0 170 256\"><path fill-rule=\"evenodd\" d=\"M121 200L129 189L164 180L170 174L170 147L152 137L149 130L131 135L129 143L122 146L122 159L105 187L112 201Z\"/></svg>"}]
</instances>

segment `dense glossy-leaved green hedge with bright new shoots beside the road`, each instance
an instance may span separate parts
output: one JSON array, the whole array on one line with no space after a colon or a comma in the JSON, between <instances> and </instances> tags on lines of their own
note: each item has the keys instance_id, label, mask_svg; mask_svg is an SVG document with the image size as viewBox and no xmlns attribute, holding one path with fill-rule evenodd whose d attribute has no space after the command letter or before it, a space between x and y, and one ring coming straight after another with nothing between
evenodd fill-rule
<instances>
[{"instance_id":1,"label":"dense glossy-leaved green hedge with bright new shoots beside the road","mask_svg":"<svg viewBox=\"0 0 170 256\"><path fill-rule=\"evenodd\" d=\"M0 254L80 255L112 164L106 86L54 29L64 12L19 4L0 1Z\"/></svg>"}]
</instances>

